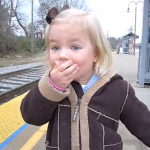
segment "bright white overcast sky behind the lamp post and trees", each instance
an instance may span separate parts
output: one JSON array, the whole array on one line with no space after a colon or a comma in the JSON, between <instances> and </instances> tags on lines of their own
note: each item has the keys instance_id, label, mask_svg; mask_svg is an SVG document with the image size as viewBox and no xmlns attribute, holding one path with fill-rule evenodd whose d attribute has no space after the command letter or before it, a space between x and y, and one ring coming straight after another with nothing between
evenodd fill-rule
<instances>
[{"instance_id":1,"label":"bright white overcast sky behind the lamp post and trees","mask_svg":"<svg viewBox=\"0 0 150 150\"><path fill-rule=\"evenodd\" d=\"M87 0L99 19L105 35L109 37L122 37L128 33L132 26L134 29L135 4L130 4L130 12L127 12L130 0ZM137 0L135 0L137 2ZM34 0L34 9L38 7L38 0ZM143 3L137 5L137 35L142 34ZM36 17L35 17L36 18Z\"/></svg>"}]
</instances>

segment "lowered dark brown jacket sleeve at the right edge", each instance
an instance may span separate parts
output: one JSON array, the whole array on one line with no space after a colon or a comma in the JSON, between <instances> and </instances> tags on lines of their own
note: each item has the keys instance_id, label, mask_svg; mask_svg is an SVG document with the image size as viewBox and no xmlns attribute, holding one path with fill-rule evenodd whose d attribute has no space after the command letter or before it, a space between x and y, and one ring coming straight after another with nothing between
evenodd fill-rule
<instances>
[{"instance_id":1,"label":"lowered dark brown jacket sleeve at the right edge","mask_svg":"<svg viewBox=\"0 0 150 150\"><path fill-rule=\"evenodd\" d=\"M120 120L131 134L150 147L150 111L135 96L135 91L130 84L128 84Z\"/></svg>"}]
</instances>

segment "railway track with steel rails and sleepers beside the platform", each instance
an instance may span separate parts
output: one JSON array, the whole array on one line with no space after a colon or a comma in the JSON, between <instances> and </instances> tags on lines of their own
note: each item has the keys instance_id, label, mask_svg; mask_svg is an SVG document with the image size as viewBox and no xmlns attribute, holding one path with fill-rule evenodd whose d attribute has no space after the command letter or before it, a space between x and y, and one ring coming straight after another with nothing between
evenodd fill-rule
<instances>
[{"instance_id":1,"label":"railway track with steel rails and sleepers beside the platform","mask_svg":"<svg viewBox=\"0 0 150 150\"><path fill-rule=\"evenodd\" d=\"M42 65L0 74L0 104L30 90L44 73Z\"/></svg>"}]
</instances>

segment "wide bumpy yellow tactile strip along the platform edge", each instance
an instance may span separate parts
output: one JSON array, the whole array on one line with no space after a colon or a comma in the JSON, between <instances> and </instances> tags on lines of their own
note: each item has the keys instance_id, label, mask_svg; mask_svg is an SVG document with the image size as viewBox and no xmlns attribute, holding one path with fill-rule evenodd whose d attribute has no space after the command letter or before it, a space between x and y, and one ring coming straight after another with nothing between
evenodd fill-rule
<instances>
[{"instance_id":1,"label":"wide bumpy yellow tactile strip along the platform edge","mask_svg":"<svg viewBox=\"0 0 150 150\"><path fill-rule=\"evenodd\" d=\"M20 104L26 94L0 106L0 143L5 141L25 123L20 113Z\"/></svg>"}]
</instances>

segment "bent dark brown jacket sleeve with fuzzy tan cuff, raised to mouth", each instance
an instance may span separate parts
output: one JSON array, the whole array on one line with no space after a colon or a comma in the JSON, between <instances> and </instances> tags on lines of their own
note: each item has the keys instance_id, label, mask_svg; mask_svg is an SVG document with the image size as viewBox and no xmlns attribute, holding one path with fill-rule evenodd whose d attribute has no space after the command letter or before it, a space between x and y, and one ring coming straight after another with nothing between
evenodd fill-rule
<instances>
[{"instance_id":1,"label":"bent dark brown jacket sleeve with fuzzy tan cuff, raised to mouth","mask_svg":"<svg viewBox=\"0 0 150 150\"><path fill-rule=\"evenodd\" d=\"M64 93L54 90L48 82L48 74L49 71L21 102L21 115L29 124L40 126L50 121L59 101L70 94L69 88Z\"/></svg>"}]
</instances>

